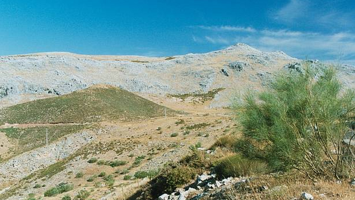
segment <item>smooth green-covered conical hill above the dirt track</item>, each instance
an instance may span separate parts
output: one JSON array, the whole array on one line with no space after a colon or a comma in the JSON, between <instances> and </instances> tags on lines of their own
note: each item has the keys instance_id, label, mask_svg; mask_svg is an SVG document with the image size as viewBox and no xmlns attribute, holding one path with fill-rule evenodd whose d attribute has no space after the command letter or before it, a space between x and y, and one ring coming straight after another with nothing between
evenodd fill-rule
<instances>
[{"instance_id":1,"label":"smooth green-covered conical hill above the dirt track","mask_svg":"<svg viewBox=\"0 0 355 200\"><path fill-rule=\"evenodd\" d=\"M39 99L0 110L0 124L87 123L137 120L176 112L126 90L90 87L59 97Z\"/></svg>"}]
</instances>

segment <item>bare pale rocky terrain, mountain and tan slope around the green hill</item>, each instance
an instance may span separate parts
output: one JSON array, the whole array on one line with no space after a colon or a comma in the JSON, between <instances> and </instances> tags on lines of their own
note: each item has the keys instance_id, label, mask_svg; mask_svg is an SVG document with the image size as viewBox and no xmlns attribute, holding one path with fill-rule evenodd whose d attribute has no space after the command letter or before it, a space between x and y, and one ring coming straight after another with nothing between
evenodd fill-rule
<instances>
[{"instance_id":1,"label":"bare pale rocky terrain, mountain and tan slope around the green hill","mask_svg":"<svg viewBox=\"0 0 355 200\"><path fill-rule=\"evenodd\" d=\"M232 99L247 89L267 87L273 75L280 70L297 70L296 62L300 60L282 52L261 52L246 44L205 54L167 58L70 53L2 56L0 108L104 83L187 114L133 123L95 123L87 130L62 137L48 146L2 161L0 199L27 199L31 193L36 198L61 199L64 194L55 197L43 197L43 194L62 182L74 185L73 190L65 193L71 196L87 189L91 191L92 199L125 199L138 186L148 182L147 178L123 180L125 175L158 169L168 161L178 161L189 154L190 145L201 142L203 147L209 147L218 137L235 131L234 115L225 108L230 106ZM344 85L354 88L355 68L342 65L338 69ZM168 94L206 93L217 88L225 89L206 102L167 97ZM184 123L176 124L181 119ZM202 123L208 125L186 132L187 126ZM172 137L174 133L178 135ZM0 133L0 145L2 156L16 148L16 140ZM138 156L145 157L138 166L132 167ZM88 163L91 157L128 163L110 167ZM128 173L121 174L125 169ZM87 182L103 171L114 175L112 188L108 188L99 177ZM75 178L78 172L82 172L83 177ZM40 187L34 188L36 184Z\"/></svg>"}]
</instances>

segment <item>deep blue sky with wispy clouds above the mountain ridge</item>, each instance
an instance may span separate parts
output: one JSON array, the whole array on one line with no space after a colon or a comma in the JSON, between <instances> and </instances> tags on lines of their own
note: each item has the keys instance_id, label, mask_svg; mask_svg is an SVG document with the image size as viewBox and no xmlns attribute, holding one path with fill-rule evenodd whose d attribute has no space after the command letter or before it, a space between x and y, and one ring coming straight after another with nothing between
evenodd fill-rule
<instances>
[{"instance_id":1,"label":"deep blue sky with wispy clouds above the mountain ridge","mask_svg":"<svg viewBox=\"0 0 355 200\"><path fill-rule=\"evenodd\" d=\"M351 0L2 0L0 55L169 56L244 42L355 64Z\"/></svg>"}]
</instances>

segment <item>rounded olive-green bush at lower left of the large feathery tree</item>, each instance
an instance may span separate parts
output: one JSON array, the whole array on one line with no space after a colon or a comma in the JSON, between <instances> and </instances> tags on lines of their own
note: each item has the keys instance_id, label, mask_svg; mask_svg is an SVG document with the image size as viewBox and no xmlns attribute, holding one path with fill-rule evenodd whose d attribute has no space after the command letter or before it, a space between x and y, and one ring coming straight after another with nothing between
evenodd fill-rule
<instances>
[{"instance_id":1,"label":"rounded olive-green bush at lower left of the large feathery tree","mask_svg":"<svg viewBox=\"0 0 355 200\"><path fill-rule=\"evenodd\" d=\"M249 176L267 171L267 166L261 161L253 161L235 154L219 160L214 167L220 178Z\"/></svg>"}]
</instances>

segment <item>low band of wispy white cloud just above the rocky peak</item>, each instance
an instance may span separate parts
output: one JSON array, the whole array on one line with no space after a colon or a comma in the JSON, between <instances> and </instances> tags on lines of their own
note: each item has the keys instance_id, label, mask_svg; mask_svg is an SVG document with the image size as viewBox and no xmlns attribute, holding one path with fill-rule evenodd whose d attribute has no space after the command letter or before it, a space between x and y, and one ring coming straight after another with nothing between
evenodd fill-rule
<instances>
[{"instance_id":1,"label":"low band of wispy white cloud just above the rocky peak","mask_svg":"<svg viewBox=\"0 0 355 200\"><path fill-rule=\"evenodd\" d=\"M282 50L296 58L321 60L355 59L355 33L302 32L288 29L254 29L253 32L224 34L219 31L202 31L205 34L195 42L214 45L231 45L244 42L262 50ZM340 58L341 57L341 58ZM355 63L352 63L355 64Z\"/></svg>"}]
</instances>

